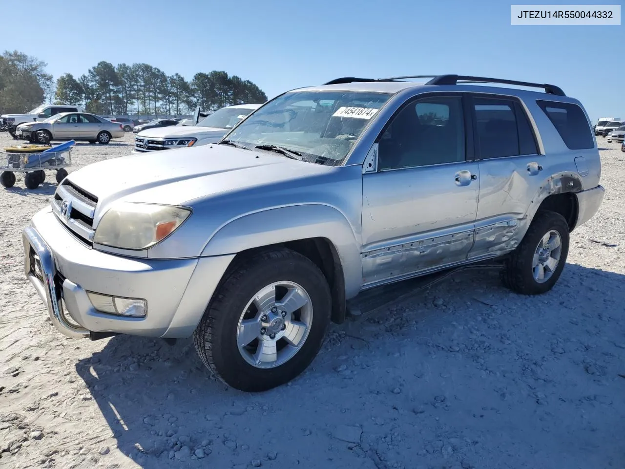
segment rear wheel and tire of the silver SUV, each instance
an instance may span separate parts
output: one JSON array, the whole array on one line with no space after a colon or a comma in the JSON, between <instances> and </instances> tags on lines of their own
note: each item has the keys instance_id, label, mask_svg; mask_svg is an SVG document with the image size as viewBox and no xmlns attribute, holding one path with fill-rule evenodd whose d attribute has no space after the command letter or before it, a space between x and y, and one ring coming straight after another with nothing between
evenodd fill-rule
<instances>
[{"instance_id":1,"label":"rear wheel and tire of the silver SUV","mask_svg":"<svg viewBox=\"0 0 625 469\"><path fill-rule=\"evenodd\" d=\"M547 244L549 250L543 248ZM569 225L566 219L556 212L539 211L529 225L521 244L506 260L501 271L502 283L521 295L546 293L560 278L568 253ZM557 262L554 264L552 259L556 257ZM539 265L534 266L535 261ZM542 280L539 278L541 271Z\"/></svg>"}]
</instances>

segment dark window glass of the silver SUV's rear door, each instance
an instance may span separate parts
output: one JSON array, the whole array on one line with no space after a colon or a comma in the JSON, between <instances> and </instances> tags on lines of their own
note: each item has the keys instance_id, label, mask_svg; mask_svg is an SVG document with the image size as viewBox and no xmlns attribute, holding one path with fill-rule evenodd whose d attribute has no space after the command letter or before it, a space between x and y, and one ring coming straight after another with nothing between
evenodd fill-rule
<instances>
[{"instance_id":1,"label":"dark window glass of the silver SUV's rear door","mask_svg":"<svg viewBox=\"0 0 625 469\"><path fill-rule=\"evenodd\" d=\"M521 105L513 99L473 98L480 158L536 154L536 139Z\"/></svg>"}]
</instances>

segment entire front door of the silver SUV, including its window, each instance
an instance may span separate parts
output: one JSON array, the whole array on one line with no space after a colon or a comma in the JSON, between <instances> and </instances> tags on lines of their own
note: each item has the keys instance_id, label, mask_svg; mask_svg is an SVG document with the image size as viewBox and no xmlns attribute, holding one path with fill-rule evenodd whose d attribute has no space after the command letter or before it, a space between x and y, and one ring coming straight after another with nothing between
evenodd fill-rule
<instances>
[{"instance_id":1,"label":"entire front door of the silver SUV, including its window","mask_svg":"<svg viewBox=\"0 0 625 469\"><path fill-rule=\"evenodd\" d=\"M466 136L459 93L411 99L384 128L362 176L365 286L466 261L479 198Z\"/></svg>"}]
</instances>

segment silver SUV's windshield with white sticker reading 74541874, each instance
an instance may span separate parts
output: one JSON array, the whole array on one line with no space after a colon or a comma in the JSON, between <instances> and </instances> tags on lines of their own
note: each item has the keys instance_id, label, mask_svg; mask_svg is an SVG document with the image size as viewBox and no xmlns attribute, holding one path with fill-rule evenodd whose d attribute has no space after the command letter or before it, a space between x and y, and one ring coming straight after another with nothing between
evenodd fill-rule
<instances>
[{"instance_id":1,"label":"silver SUV's windshield with white sticker reading 74541874","mask_svg":"<svg viewBox=\"0 0 625 469\"><path fill-rule=\"evenodd\" d=\"M337 166L391 97L364 91L292 91L265 104L225 139L246 146L278 145L302 159Z\"/></svg>"}]
</instances>

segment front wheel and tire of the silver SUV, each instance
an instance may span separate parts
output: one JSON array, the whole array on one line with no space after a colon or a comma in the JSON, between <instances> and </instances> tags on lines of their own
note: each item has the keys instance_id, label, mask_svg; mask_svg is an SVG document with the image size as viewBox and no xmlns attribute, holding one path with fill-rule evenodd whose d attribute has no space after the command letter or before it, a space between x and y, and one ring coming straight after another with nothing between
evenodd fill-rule
<instances>
[{"instance_id":1,"label":"front wheel and tire of the silver SUV","mask_svg":"<svg viewBox=\"0 0 625 469\"><path fill-rule=\"evenodd\" d=\"M279 285L271 288L276 283ZM284 284L292 289L286 290ZM271 300L264 302L264 308L257 308L254 301L257 295L265 295L263 290L267 298L277 300L276 306L281 306L279 301L285 292L309 301L299 301L304 306L289 313L271 309ZM330 313L329 286L312 261L288 249L264 251L237 262L227 271L194 331L193 341L204 365L219 380L241 391L266 391L306 370L321 348ZM245 338L241 323L251 318L256 319L250 322L256 322L250 329L251 336ZM296 327L305 324L305 331ZM299 337L297 342L292 342L296 344L294 349L286 345L288 335L296 340ZM247 342L250 338L251 342ZM247 342L247 346L239 346L241 341ZM261 343L276 346L276 361L263 360L252 365L252 353L259 353Z\"/></svg>"}]
</instances>

